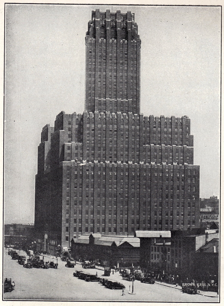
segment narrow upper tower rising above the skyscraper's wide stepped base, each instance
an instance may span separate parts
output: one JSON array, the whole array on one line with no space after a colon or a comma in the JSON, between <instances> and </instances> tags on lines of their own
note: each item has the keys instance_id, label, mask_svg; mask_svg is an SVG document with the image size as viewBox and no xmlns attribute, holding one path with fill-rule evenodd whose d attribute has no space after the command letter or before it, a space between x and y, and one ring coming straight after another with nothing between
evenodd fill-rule
<instances>
[{"instance_id":1,"label":"narrow upper tower rising above the skyscraper's wide stepped base","mask_svg":"<svg viewBox=\"0 0 224 306\"><path fill-rule=\"evenodd\" d=\"M134 14L92 11L85 39L85 110L139 114L141 40Z\"/></svg>"}]
</instances>

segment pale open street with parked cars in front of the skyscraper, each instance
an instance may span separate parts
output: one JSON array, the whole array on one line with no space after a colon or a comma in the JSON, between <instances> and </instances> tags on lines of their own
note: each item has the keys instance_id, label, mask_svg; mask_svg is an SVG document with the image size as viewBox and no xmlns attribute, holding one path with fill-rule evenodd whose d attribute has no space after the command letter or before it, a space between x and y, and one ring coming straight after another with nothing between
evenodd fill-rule
<instances>
[{"instance_id":1,"label":"pale open street with parked cars in front of the skyscraper","mask_svg":"<svg viewBox=\"0 0 224 306\"><path fill-rule=\"evenodd\" d=\"M21 255L22 252L21 252ZM15 290L6 292L6 300L124 300L124 301L185 301L185 302L218 302L217 297L205 297L199 294L183 294L180 289L164 286L160 283L143 284L140 281L134 282L135 295L129 294L129 285L132 289L132 282L122 280L119 273L111 277L118 280L126 287L125 295L121 290L105 288L98 282L85 282L73 276L76 270L86 271L92 274L103 275L102 270L82 269L77 263L75 268L65 267L65 262L58 260L58 269L27 269L12 260L11 256L4 256L4 277L12 278L15 282ZM45 257L45 259L47 259ZM52 260L52 259L51 259ZM46 260L48 261L48 259ZM54 259L56 263L56 260Z\"/></svg>"}]
</instances>

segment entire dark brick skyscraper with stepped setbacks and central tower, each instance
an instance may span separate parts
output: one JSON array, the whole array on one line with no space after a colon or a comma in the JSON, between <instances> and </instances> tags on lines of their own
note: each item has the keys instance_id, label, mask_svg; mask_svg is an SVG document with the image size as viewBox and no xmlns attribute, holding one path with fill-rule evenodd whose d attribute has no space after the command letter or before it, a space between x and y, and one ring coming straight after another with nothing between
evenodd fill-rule
<instances>
[{"instance_id":1,"label":"entire dark brick skyscraper with stepped setbacks and central tower","mask_svg":"<svg viewBox=\"0 0 224 306\"><path fill-rule=\"evenodd\" d=\"M38 148L35 229L53 252L83 233L199 226L190 119L140 113L141 41L131 12L92 12L85 111L57 115ZM44 238L43 238L44 237Z\"/></svg>"}]
</instances>

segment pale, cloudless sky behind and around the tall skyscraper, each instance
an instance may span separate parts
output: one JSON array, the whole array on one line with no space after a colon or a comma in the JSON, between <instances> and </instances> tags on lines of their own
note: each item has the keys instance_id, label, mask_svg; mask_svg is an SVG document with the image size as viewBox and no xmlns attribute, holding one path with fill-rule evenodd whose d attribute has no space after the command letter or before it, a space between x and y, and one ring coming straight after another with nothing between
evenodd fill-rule
<instances>
[{"instance_id":1,"label":"pale, cloudless sky behind and around the tall skyscraper","mask_svg":"<svg viewBox=\"0 0 224 306\"><path fill-rule=\"evenodd\" d=\"M33 223L37 147L56 115L84 111L91 11L135 13L141 39L140 112L188 116L200 197L220 182L221 8L6 5L5 223Z\"/></svg>"}]
</instances>

